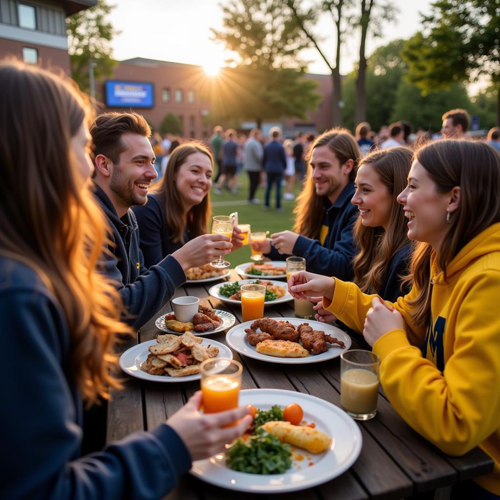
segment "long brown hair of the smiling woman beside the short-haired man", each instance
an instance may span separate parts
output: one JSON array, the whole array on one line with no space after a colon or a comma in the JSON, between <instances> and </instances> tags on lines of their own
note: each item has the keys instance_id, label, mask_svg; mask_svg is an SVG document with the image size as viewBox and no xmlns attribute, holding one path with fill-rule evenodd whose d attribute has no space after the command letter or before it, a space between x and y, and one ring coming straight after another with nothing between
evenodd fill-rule
<instances>
[{"instance_id":1,"label":"long brown hair of the smiling woman beside the short-haired man","mask_svg":"<svg viewBox=\"0 0 500 500\"><path fill-rule=\"evenodd\" d=\"M190 141L177 146L168 158L163 178L155 184L151 192L158 196L165 210L166 225L174 243L185 243L184 233L187 229L191 238L205 234L210 221L211 205L210 193L201 203L192 206L186 215L183 213L182 201L175 188L175 176L187 157L193 153L203 153L208 156L213 168L213 158L210 151L197 141Z\"/></svg>"}]
</instances>

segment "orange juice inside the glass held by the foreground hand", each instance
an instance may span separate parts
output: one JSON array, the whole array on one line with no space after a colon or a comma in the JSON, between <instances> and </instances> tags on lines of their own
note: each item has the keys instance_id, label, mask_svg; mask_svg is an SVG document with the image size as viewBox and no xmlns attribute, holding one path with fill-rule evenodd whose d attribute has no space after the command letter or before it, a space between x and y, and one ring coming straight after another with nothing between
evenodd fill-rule
<instances>
[{"instance_id":1,"label":"orange juice inside the glass held by the foreground hand","mask_svg":"<svg viewBox=\"0 0 500 500\"><path fill-rule=\"evenodd\" d=\"M203 412L215 413L237 408L240 381L227 375L214 375L201 382Z\"/></svg>"}]
</instances>

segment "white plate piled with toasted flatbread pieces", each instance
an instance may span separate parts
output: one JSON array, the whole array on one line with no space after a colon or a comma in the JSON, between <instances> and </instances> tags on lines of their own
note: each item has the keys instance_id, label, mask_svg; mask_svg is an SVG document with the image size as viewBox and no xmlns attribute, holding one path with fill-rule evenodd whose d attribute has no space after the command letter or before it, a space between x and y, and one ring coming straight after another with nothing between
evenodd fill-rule
<instances>
[{"instance_id":1,"label":"white plate piled with toasted flatbread pieces","mask_svg":"<svg viewBox=\"0 0 500 500\"><path fill-rule=\"evenodd\" d=\"M120 368L129 375L157 382L199 380L199 365L212 357L228 357L232 352L224 344L186 331L182 335L166 333L127 349L119 359Z\"/></svg>"}]
</instances>

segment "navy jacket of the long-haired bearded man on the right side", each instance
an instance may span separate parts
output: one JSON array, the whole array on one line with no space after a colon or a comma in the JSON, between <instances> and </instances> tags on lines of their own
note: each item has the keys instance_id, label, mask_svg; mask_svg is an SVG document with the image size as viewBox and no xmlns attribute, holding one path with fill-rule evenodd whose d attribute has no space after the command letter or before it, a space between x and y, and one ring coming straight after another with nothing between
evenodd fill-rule
<instances>
[{"instance_id":1,"label":"navy jacket of the long-haired bearded man on the right side","mask_svg":"<svg viewBox=\"0 0 500 500\"><path fill-rule=\"evenodd\" d=\"M358 213L357 207L350 202L353 195L354 183L349 182L333 204L325 198L325 210L322 216L323 224L328 227L328 233L323 244L317 239L302 235L295 241L293 255L305 258L308 271L335 276L342 281L352 281L354 277L352 259L356 254L352 226ZM273 246L266 256L272 260L283 260L286 257L278 253Z\"/></svg>"}]
</instances>

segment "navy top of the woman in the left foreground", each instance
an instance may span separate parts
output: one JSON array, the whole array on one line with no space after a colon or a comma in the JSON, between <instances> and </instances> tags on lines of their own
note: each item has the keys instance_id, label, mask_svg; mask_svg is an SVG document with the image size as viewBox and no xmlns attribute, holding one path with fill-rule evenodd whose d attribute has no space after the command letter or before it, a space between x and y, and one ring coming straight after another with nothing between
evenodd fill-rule
<instances>
[{"instance_id":1,"label":"navy top of the woman in the left foreground","mask_svg":"<svg viewBox=\"0 0 500 500\"><path fill-rule=\"evenodd\" d=\"M80 457L80 394L60 303L26 265L0 256L4 375L0 498L160 498L191 466L177 433L161 424Z\"/></svg>"}]
</instances>

